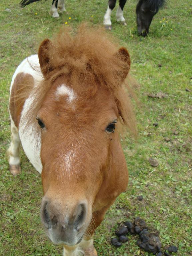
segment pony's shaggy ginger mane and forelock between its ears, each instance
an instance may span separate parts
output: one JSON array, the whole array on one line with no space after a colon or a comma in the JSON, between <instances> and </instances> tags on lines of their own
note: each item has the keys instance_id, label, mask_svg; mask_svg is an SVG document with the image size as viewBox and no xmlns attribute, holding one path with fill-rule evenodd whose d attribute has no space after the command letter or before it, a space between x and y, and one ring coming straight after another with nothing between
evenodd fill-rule
<instances>
[{"instance_id":1,"label":"pony's shaggy ginger mane and forelock between its ears","mask_svg":"<svg viewBox=\"0 0 192 256\"><path fill-rule=\"evenodd\" d=\"M36 122L36 115L46 93L53 82L64 75L72 87L81 87L81 91L87 91L88 97L93 96L101 86L109 89L115 96L121 121L135 134L130 89L125 82L122 86L121 78L130 63L127 64L118 55L119 47L112 43L111 34L109 39L104 29L88 28L83 24L76 33L63 27L51 41L47 42L49 43L43 48L46 64L41 65L44 80L32 91L35 100L26 116L28 124Z\"/></svg>"}]
</instances>

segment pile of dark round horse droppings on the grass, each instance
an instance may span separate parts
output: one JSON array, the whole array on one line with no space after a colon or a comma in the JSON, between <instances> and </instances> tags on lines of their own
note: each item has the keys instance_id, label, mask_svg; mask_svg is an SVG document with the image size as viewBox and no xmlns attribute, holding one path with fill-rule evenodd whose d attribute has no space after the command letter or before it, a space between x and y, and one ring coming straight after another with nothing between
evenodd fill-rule
<instances>
[{"instance_id":1,"label":"pile of dark round horse droppings on the grass","mask_svg":"<svg viewBox=\"0 0 192 256\"><path fill-rule=\"evenodd\" d=\"M139 248L146 252L153 253L156 256L162 256L163 252L161 250L161 241L158 237L158 232L149 232L146 222L137 217L134 222L126 221L123 226L115 231L118 238L112 238L111 244L120 247L122 243L127 242L129 239L127 234L138 234L139 239L137 240L137 245ZM166 246L164 255L170 256L170 253L177 252L177 247L174 245Z\"/></svg>"}]
</instances>

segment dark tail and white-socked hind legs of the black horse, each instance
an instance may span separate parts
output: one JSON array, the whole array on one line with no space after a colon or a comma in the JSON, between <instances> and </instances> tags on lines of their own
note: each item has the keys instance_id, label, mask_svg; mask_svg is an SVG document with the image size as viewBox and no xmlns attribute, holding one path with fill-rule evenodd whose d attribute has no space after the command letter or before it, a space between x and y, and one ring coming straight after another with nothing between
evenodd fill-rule
<instances>
[{"instance_id":1,"label":"dark tail and white-socked hind legs of the black horse","mask_svg":"<svg viewBox=\"0 0 192 256\"><path fill-rule=\"evenodd\" d=\"M26 5L28 4L31 4L33 2L38 2L38 1L41 1L41 0L22 0L20 2L21 6L22 7L25 7ZM53 17L53 18L58 18L59 17L59 12L64 12L66 11L65 9L65 4L64 4L64 0L53 0L52 2L52 6L51 6L51 9L50 9L50 15Z\"/></svg>"}]
</instances>

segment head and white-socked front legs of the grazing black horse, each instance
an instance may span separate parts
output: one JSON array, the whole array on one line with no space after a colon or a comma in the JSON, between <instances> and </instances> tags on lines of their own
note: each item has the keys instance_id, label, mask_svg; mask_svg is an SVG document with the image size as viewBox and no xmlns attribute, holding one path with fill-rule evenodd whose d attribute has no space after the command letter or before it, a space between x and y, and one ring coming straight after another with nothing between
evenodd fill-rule
<instances>
[{"instance_id":1,"label":"head and white-socked front legs of the grazing black horse","mask_svg":"<svg viewBox=\"0 0 192 256\"><path fill-rule=\"evenodd\" d=\"M127 25L123 17L123 8L127 0L119 0L119 8L116 12L116 19L123 25ZM163 7L166 0L139 0L136 7L137 14L137 30L141 36L146 36L149 33L149 26L153 16ZM109 5L104 16L103 24L111 30L111 12L114 9L116 0L109 0Z\"/></svg>"}]
</instances>

